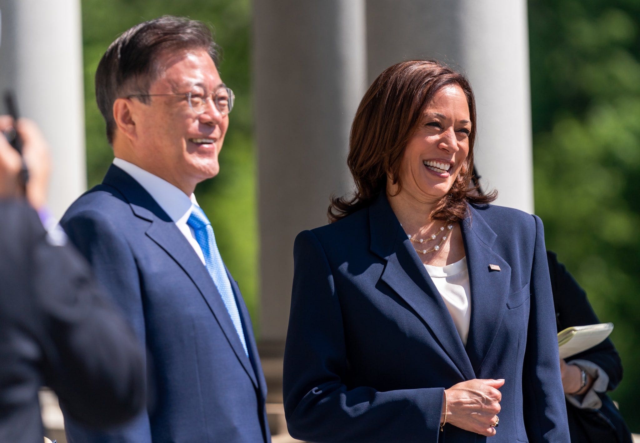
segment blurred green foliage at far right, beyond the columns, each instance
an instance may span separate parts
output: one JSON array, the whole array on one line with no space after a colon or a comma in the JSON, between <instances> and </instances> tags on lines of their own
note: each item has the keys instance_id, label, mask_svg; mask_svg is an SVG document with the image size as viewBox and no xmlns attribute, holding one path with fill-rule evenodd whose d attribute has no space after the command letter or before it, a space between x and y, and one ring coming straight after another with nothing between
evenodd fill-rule
<instances>
[{"instance_id":1,"label":"blurred green foliage at far right, beyond the columns","mask_svg":"<svg viewBox=\"0 0 640 443\"><path fill-rule=\"evenodd\" d=\"M529 0L536 213L625 367L640 431L640 2Z\"/></svg>"}]
</instances>

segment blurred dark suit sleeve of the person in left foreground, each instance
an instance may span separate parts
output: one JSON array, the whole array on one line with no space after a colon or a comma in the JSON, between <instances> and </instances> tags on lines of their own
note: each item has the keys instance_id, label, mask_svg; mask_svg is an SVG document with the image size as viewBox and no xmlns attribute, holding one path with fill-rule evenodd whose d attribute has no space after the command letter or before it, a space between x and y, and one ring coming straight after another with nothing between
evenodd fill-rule
<instances>
[{"instance_id":1,"label":"blurred dark suit sleeve of the person in left foreground","mask_svg":"<svg viewBox=\"0 0 640 443\"><path fill-rule=\"evenodd\" d=\"M146 400L143 351L131 328L100 294L86 261L70 245L48 241L33 209L2 202L0 214L8 227L0 236L0 326L12 331L3 350L12 346L8 358L17 367L3 369L20 371L5 380L24 383L36 367L35 383L54 389L77 421L131 419Z\"/></svg>"}]
</instances>

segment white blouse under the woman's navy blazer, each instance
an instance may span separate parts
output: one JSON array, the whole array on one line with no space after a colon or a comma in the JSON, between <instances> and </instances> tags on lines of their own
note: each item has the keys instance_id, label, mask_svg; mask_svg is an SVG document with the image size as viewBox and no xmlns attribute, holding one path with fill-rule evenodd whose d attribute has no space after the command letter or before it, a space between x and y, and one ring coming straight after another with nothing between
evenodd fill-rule
<instances>
[{"instance_id":1,"label":"white blouse under the woman's navy blazer","mask_svg":"<svg viewBox=\"0 0 640 443\"><path fill-rule=\"evenodd\" d=\"M466 257L447 266L425 264L424 267L449 309L462 344L467 346L471 319L471 290Z\"/></svg>"}]
</instances>

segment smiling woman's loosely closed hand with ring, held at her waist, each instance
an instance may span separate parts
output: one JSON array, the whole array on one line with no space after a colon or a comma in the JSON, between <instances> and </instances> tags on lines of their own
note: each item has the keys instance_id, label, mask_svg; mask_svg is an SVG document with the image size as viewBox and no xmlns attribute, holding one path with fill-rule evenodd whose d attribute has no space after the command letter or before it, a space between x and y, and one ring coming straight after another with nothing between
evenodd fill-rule
<instances>
[{"instance_id":1,"label":"smiling woman's loosely closed hand with ring, held at her waist","mask_svg":"<svg viewBox=\"0 0 640 443\"><path fill-rule=\"evenodd\" d=\"M458 428L491 437L500 412L502 394L498 389L504 380L467 380L445 389L447 395L447 423Z\"/></svg>"}]
</instances>

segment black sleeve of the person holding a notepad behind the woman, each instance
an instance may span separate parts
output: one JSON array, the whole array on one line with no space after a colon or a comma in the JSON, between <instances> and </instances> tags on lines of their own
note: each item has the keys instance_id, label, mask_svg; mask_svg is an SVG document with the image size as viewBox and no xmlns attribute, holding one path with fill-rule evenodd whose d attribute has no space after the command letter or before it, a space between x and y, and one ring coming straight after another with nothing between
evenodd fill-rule
<instances>
[{"instance_id":1,"label":"black sleeve of the person holding a notepad behind the woman","mask_svg":"<svg viewBox=\"0 0 640 443\"><path fill-rule=\"evenodd\" d=\"M556 305L558 331L570 326L600 323L598 316L591 308L587 294L564 265L557 261L556 254L547 251L547 260L554 293L554 303ZM573 355L570 359L589 360L602 367L609 376L608 391L616 389L616 386L622 380L620 355L618 355L618 351L616 351L610 339L606 339L589 350Z\"/></svg>"}]
</instances>

